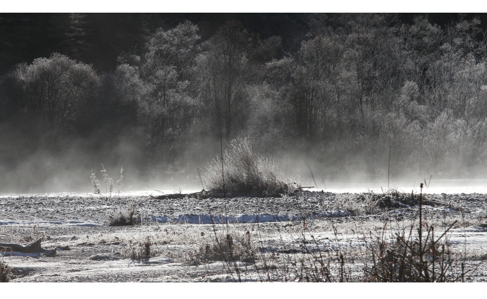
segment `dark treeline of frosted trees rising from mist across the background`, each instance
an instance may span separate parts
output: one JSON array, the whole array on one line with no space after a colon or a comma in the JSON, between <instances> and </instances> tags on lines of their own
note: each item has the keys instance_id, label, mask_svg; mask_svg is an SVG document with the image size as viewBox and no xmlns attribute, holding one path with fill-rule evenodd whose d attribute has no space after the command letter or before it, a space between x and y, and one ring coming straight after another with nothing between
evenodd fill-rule
<instances>
[{"instance_id":1,"label":"dark treeline of frosted trees rising from mist across the background","mask_svg":"<svg viewBox=\"0 0 487 299\"><path fill-rule=\"evenodd\" d=\"M107 160L203 166L220 136L313 160L326 180L383 179L389 154L395 177L478 174L482 25L470 15L2 14L0 189Z\"/></svg>"}]
</instances>

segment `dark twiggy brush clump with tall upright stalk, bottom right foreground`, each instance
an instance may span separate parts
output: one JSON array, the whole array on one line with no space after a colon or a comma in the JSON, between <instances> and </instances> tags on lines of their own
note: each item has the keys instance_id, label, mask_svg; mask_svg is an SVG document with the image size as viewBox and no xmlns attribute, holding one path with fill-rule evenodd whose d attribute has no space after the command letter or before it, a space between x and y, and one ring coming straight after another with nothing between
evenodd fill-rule
<instances>
[{"instance_id":1,"label":"dark twiggy brush clump with tall upright stalk, bottom right foreground","mask_svg":"<svg viewBox=\"0 0 487 299\"><path fill-rule=\"evenodd\" d=\"M420 185L421 191L423 184ZM458 261L450 252L447 233L457 223L453 222L439 237L435 238L433 225L424 225L422 212L423 196L419 194L419 226L415 234L413 227L406 233L395 233L395 240L390 243L384 238L387 223L382 229L382 236L373 236L369 243L372 253L372 266L364 268L366 281L380 282L455 282L464 281L465 275L474 270L466 269L461 263L461 272L455 274L453 266ZM426 230L426 234L424 231ZM426 236L425 236L426 235ZM366 241L367 242L367 241Z\"/></svg>"}]
</instances>

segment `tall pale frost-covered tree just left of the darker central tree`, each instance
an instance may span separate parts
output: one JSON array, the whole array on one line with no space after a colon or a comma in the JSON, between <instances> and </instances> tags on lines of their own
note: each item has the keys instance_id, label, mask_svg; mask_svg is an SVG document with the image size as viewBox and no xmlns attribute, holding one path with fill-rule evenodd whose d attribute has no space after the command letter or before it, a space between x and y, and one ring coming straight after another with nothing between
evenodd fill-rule
<instances>
[{"instance_id":1,"label":"tall pale frost-covered tree just left of the darker central tree","mask_svg":"<svg viewBox=\"0 0 487 299\"><path fill-rule=\"evenodd\" d=\"M188 141L196 105L191 71L199 40L198 26L189 21L150 37L140 67L147 95L139 101L139 119L151 152L173 155Z\"/></svg>"}]
</instances>

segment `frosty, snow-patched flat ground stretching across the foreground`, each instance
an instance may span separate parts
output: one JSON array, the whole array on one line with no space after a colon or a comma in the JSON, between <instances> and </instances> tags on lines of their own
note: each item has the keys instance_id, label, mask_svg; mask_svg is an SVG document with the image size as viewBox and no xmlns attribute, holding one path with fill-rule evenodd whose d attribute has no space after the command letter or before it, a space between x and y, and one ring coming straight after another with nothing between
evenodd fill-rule
<instances>
[{"instance_id":1,"label":"frosty, snow-patched flat ground stretching across the foreground","mask_svg":"<svg viewBox=\"0 0 487 299\"><path fill-rule=\"evenodd\" d=\"M423 224L432 225L435 236L457 221L446 236L451 277L486 279L486 198L425 196ZM14 282L321 281L323 267L331 281L364 281L377 240L392 243L396 233L417 227L416 200L394 192L178 200L2 197L0 243L42 238L43 246L57 248L56 257L2 253ZM136 226L108 226L113 210L134 202Z\"/></svg>"}]
</instances>

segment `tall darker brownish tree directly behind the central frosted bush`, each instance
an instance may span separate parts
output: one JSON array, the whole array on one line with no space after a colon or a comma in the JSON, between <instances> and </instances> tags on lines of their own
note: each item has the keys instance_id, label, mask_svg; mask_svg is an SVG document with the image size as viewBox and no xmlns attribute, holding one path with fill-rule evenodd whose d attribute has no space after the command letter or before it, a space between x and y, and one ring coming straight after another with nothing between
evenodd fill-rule
<instances>
[{"instance_id":1,"label":"tall darker brownish tree directly behind the central frosted bush","mask_svg":"<svg viewBox=\"0 0 487 299\"><path fill-rule=\"evenodd\" d=\"M257 44L257 37L239 22L227 22L205 42L204 52L197 57L199 96L212 115L213 130L221 130L226 140L244 129L250 112L249 86L259 78Z\"/></svg>"}]
</instances>

